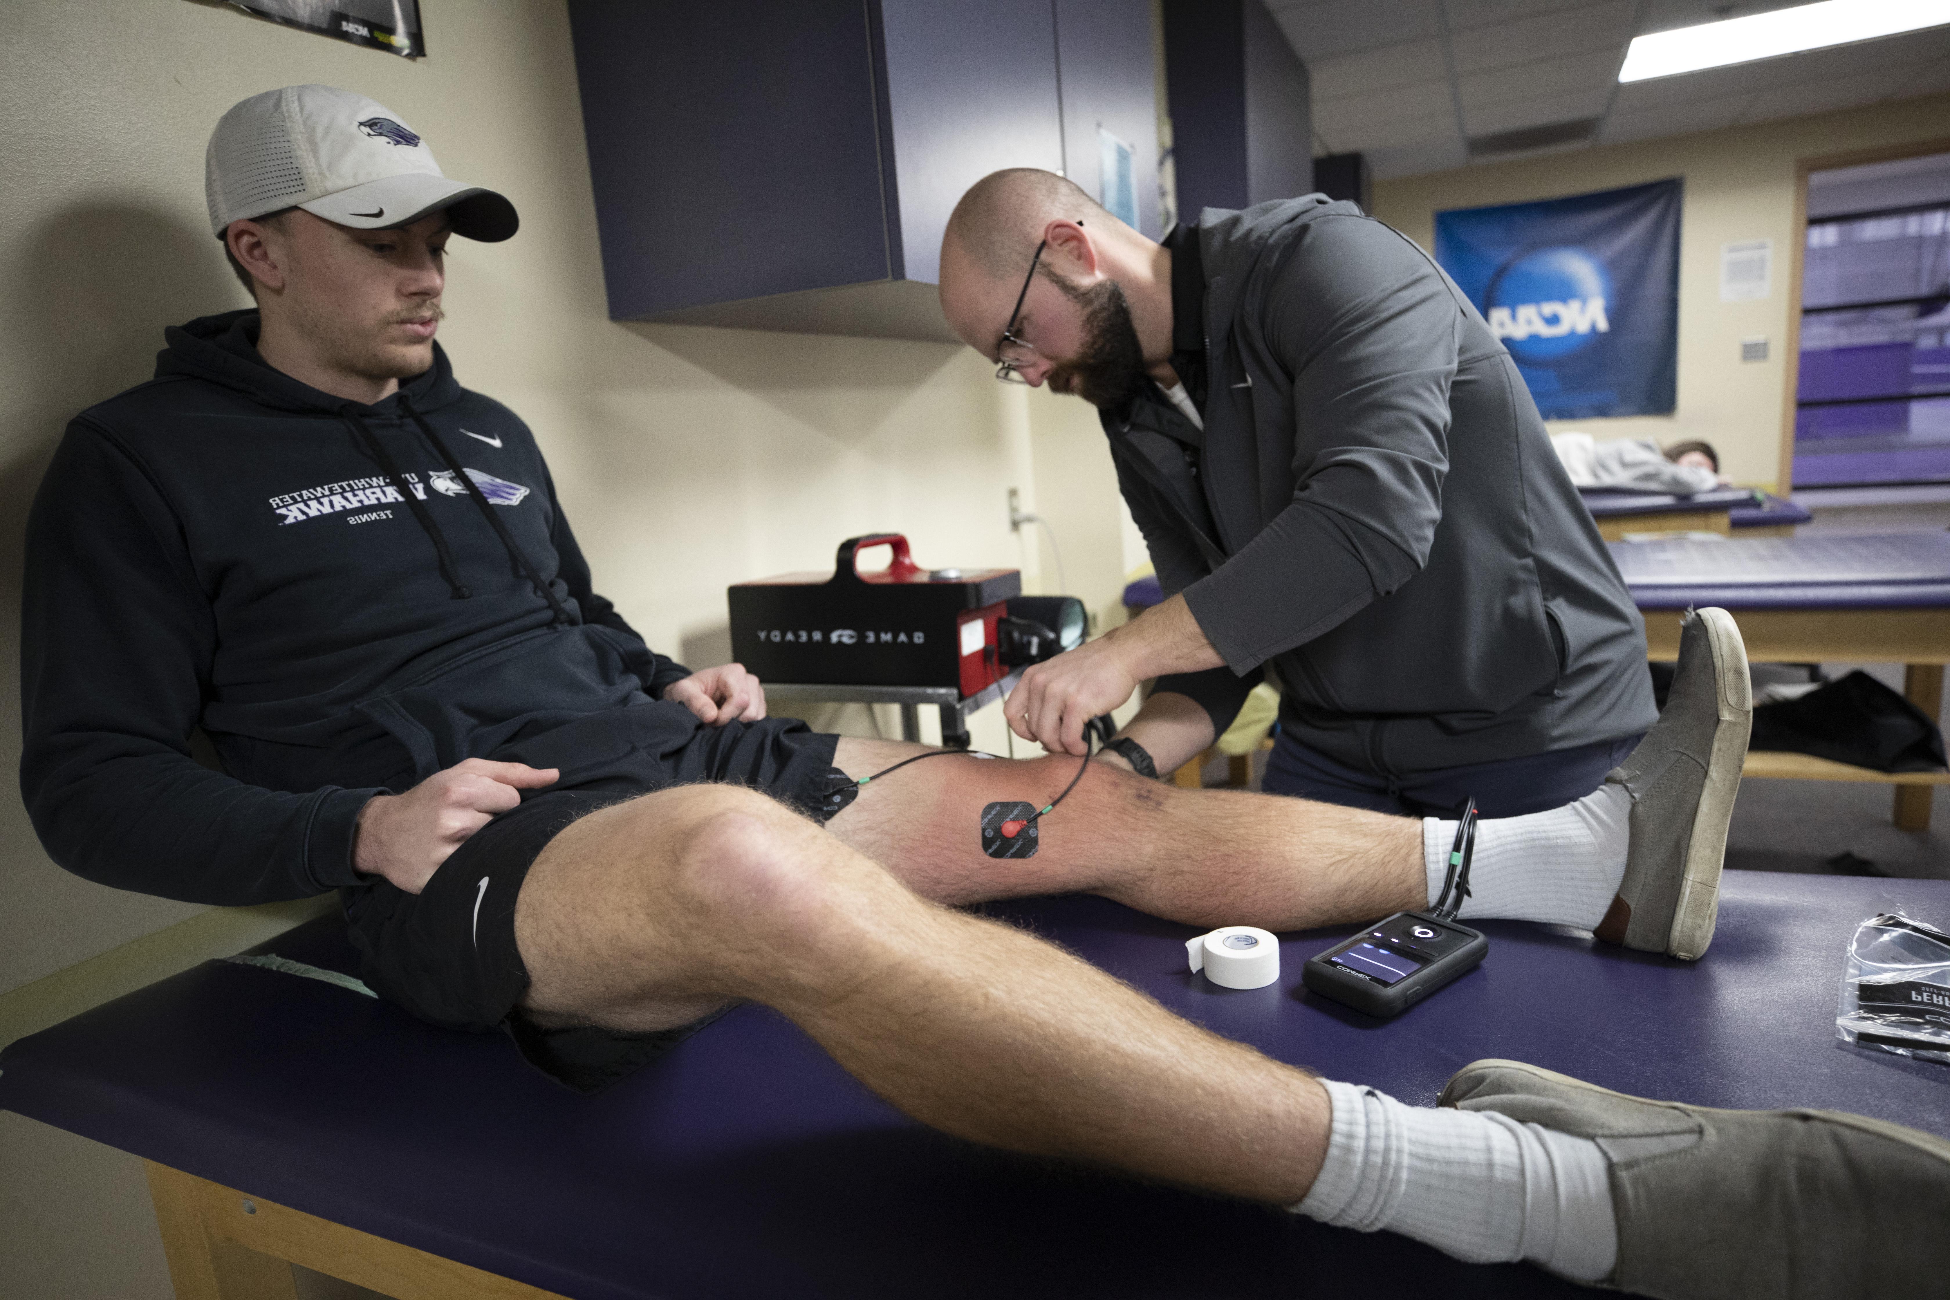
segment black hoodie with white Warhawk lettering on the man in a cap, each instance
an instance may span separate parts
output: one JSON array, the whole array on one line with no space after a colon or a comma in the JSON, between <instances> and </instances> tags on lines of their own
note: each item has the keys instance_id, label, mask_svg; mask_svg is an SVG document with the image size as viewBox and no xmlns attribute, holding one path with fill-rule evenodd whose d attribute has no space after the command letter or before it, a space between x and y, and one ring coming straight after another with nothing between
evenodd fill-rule
<instances>
[{"instance_id":1,"label":"black hoodie with white Warhawk lettering on the man in a cap","mask_svg":"<svg viewBox=\"0 0 1950 1300\"><path fill-rule=\"evenodd\" d=\"M68 425L27 520L20 780L62 867L218 904L357 885L372 795L686 674L591 591L526 425L439 347L361 405L267 366L255 312L166 339Z\"/></svg>"}]
</instances>

